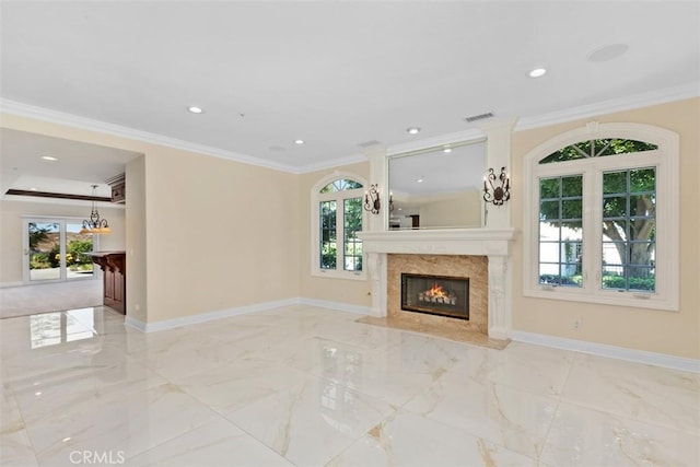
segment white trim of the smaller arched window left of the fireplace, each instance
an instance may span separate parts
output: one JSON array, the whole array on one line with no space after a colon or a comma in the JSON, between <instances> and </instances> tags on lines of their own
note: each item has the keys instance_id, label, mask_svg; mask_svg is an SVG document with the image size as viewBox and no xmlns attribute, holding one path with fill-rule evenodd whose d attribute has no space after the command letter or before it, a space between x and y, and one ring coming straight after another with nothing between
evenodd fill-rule
<instances>
[{"instance_id":1,"label":"white trim of the smaller arched window left of the fireplace","mask_svg":"<svg viewBox=\"0 0 700 467\"><path fill-rule=\"evenodd\" d=\"M324 200L338 199L337 194L341 191L334 191L334 194L319 194L323 187L328 185L329 183L337 180L339 178L348 178L351 180L355 180L364 188L362 188L362 194L366 189L368 180L364 177L361 177L357 174L350 172L339 172L336 171L332 174L329 174L318 180L311 188L311 275L314 277L323 277L329 279L350 279L350 280L366 280L366 254L362 255L362 265L363 268L361 271L346 271L345 269L322 269L320 264L320 252L318 250L318 245L320 243L320 219L318 217L318 203ZM369 225L369 215L366 211L362 211L362 225L365 229ZM342 229L342 224L337 225L337 229ZM340 240L340 236L338 236Z\"/></svg>"}]
</instances>

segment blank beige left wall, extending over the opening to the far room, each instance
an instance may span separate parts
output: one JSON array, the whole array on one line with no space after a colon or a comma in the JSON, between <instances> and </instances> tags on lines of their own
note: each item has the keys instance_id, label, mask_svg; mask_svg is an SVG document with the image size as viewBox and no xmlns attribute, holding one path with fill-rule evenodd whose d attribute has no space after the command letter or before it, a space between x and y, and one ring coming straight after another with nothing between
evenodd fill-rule
<instances>
[{"instance_id":1,"label":"blank beige left wall, extending over the opening to the far room","mask_svg":"<svg viewBox=\"0 0 700 467\"><path fill-rule=\"evenodd\" d=\"M127 166L130 316L154 323L299 296L296 175L15 115L2 126L144 154Z\"/></svg>"}]
</instances>

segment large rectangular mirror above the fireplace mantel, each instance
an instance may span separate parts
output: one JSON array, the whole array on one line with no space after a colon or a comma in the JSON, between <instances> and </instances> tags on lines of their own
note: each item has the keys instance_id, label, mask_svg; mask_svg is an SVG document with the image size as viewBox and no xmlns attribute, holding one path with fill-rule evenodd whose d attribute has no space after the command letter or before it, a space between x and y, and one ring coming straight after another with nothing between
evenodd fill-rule
<instances>
[{"instance_id":1,"label":"large rectangular mirror above the fireplace mantel","mask_svg":"<svg viewBox=\"0 0 700 467\"><path fill-rule=\"evenodd\" d=\"M487 141L463 141L388 159L389 229L481 226Z\"/></svg>"}]
</instances>

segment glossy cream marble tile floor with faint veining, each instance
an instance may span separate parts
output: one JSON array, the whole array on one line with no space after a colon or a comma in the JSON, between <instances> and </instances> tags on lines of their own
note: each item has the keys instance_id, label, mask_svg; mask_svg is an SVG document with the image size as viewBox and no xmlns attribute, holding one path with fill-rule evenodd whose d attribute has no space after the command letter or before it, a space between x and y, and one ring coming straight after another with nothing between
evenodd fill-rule
<instances>
[{"instance_id":1,"label":"glossy cream marble tile floor with faint veining","mask_svg":"<svg viewBox=\"0 0 700 467\"><path fill-rule=\"evenodd\" d=\"M0 465L700 465L698 374L357 318L3 319Z\"/></svg>"}]
</instances>

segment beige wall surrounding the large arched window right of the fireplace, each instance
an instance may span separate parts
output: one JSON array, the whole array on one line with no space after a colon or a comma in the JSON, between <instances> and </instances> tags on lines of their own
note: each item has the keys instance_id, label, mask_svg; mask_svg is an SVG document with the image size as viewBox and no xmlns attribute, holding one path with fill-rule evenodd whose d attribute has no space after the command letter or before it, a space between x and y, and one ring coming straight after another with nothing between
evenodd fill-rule
<instances>
[{"instance_id":1,"label":"beige wall surrounding the large arched window right of the fireplace","mask_svg":"<svg viewBox=\"0 0 700 467\"><path fill-rule=\"evenodd\" d=\"M523 157L527 152L587 121L640 122L680 135L680 311L606 306L523 296L523 244L515 242L513 326L515 330L551 335L625 348L700 358L700 212L695 190L700 171L700 100L640 108L515 132L513 136L512 209L516 229L523 229ZM517 182L522 180L522 182ZM518 188L521 187L521 188ZM573 330L574 318L581 328Z\"/></svg>"}]
</instances>

